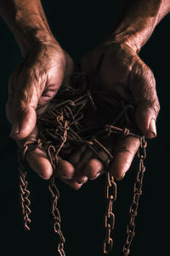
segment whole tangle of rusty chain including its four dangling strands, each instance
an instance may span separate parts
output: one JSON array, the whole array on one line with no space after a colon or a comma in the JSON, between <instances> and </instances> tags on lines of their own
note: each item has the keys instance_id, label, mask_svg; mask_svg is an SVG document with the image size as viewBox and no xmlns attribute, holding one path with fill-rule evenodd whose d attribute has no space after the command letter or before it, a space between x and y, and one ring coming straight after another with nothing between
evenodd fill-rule
<instances>
[{"instance_id":1,"label":"whole tangle of rusty chain including its four dangling strands","mask_svg":"<svg viewBox=\"0 0 170 256\"><path fill-rule=\"evenodd\" d=\"M103 146L102 143L99 143L99 140L96 137L83 137L84 131L91 131L91 127L83 127L80 121L83 118L82 109L90 102L91 107L93 107L94 111L96 111L95 102L93 96L90 94L89 91L83 91L82 95L78 95L74 93L69 87L63 90L64 98L65 92L70 93L71 99L69 100L62 100L62 95L59 96L58 102L54 102L51 105L51 108L47 109L47 115L43 115L42 118L38 119L38 129L40 132L40 138L31 139L30 142L26 142L21 150L20 159L19 159L19 169L20 169L20 197L21 197L21 207L24 216L24 226L26 230L30 230L29 224L31 223L31 219L29 215L31 214L30 204L31 201L29 200L30 192L27 189L27 181L26 181L26 172L24 171L24 166L22 164L22 160L25 159L25 155L27 151L31 151L35 148L41 148L44 150L48 155L48 160L50 160L53 173L58 166L58 156L59 153L61 154L70 154L71 147L75 147L75 145L84 145L86 144L88 148L94 152L97 158L101 160L105 166L106 171L106 182L105 182L105 195L106 195L106 210L105 210L105 240L103 243L103 252L110 253L113 247L113 239L112 231L114 230L115 226L115 215L113 213L113 202L116 201L116 183L114 181L114 177L111 173L107 172L107 168L109 163L111 162L113 156L108 151L107 148ZM86 93L85 93L86 92ZM72 96L73 95L73 96ZM120 134L124 137L132 136L138 137L140 140L140 146L138 151L139 157L139 170L137 174L136 182L134 183L133 188L133 203L130 207L130 222L127 225L127 240L123 247L123 256L127 256L129 254L129 247L133 241L135 224L134 218L137 215L137 210L139 207L139 196L142 193L142 183L144 177L144 159L146 157L146 142L144 137L140 137L129 131L127 128L120 128L114 126L115 123L117 124L117 120L121 119L122 117L125 119L127 124L129 124L129 119L127 115L127 109L133 108L131 105L122 106L121 102L117 101L116 99L109 99L106 96L101 96L100 94L95 95L98 100L107 104L112 104L112 108L116 107L118 109L118 115L116 115L116 119L111 122L112 125L105 125L105 129L103 130L103 126L99 131L98 125L94 125L93 129L96 129L96 134L100 134L99 138L102 138L102 133L107 134L107 137L111 135L111 133ZM67 95L67 98L69 96ZM60 102L60 99L63 102ZM110 106L110 105L109 105ZM112 114L112 113L111 113ZM116 113L115 113L116 114ZM124 125L124 123L123 123ZM93 130L92 130L93 131ZM98 136L97 136L98 137ZM75 144L74 144L75 143ZM107 161L103 161L100 159L99 150L103 149L105 154L108 156ZM70 151L68 151L70 150ZM66 153L67 152L67 153ZM70 152L70 153L68 153ZM59 200L59 190L57 189L54 183L54 175L50 178L48 189L51 194L51 201L52 201L52 216L54 220L54 233L58 235L59 242L58 242L58 253L59 256L65 256L64 251L64 243L65 237L63 236L60 230L60 214L58 209L58 200Z\"/></svg>"}]
</instances>

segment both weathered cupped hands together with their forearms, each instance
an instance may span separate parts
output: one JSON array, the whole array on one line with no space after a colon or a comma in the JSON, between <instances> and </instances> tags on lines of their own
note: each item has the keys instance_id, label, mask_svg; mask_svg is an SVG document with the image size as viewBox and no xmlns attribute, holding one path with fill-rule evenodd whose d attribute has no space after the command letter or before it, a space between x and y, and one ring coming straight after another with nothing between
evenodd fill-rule
<instances>
[{"instance_id":1,"label":"both weathered cupped hands together with their forearms","mask_svg":"<svg viewBox=\"0 0 170 256\"><path fill-rule=\"evenodd\" d=\"M170 1L166 0L126 1L111 34L84 56L81 63L82 71L90 76L105 51L95 89L109 94L116 91L133 102L136 123L148 138L156 137L155 123L160 107L154 75L137 53L169 9ZM48 106L59 86L69 82L74 65L50 32L39 0L0 0L0 14L14 33L23 55L23 61L10 76L7 102L11 137L20 147L31 137L37 137L37 115ZM121 179L131 165L139 141L126 137L119 142L113 138L104 143L115 154L110 171ZM26 160L42 178L52 175L52 167L42 150L37 148L26 154ZM88 148L82 147L70 159L59 159L55 175L73 189L80 189L87 177L94 179L103 172L102 163Z\"/></svg>"}]
</instances>

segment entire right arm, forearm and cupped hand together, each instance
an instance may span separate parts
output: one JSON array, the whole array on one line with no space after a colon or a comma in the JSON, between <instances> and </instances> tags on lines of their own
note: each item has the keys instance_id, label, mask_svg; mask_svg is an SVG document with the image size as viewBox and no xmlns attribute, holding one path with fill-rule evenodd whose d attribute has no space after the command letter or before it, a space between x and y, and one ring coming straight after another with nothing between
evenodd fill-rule
<instances>
[{"instance_id":1,"label":"entire right arm, forearm and cupped hand together","mask_svg":"<svg viewBox=\"0 0 170 256\"><path fill-rule=\"evenodd\" d=\"M136 124L149 138L156 137L156 116L160 106L156 96L154 75L137 53L169 11L169 0L125 1L105 42L82 60L82 71L91 76L94 74L100 55L105 52L95 89L100 90L101 93L105 90L109 95L114 95L116 92L122 96L122 99L133 102L136 106ZM139 147L139 140L126 137L116 146L111 140L106 142L105 146L112 148L114 153L110 171L117 179L121 179L131 165ZM80 154L82 155L78 157L77 155ZM77 152L75 158L72 157L70 160L76 163L76 177L79 181L82 177L94 179L103 172L102 163L96 160L89 150ZM74 184L77 186L77 183Z\"/></svg>"}]
</instances>

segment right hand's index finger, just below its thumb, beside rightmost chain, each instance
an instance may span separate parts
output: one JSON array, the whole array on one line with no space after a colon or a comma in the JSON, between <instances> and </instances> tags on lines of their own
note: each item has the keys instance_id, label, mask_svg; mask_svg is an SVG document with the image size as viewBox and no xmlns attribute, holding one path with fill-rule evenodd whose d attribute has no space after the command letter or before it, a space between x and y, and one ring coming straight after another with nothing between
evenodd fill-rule
<instances>
[{"instance_id":1,"label":"right hand's index finger, just below its thumb, beside rightmost chain","mask_svg":"<svg viewBox=\"0 0 170 256\"><path fill-rule=\"evenodd\" d=\"M109 167L117 180L121 180L131 166L133 157L139 148L139 139L136 137L122 137L114 150L114 159Z\"/></svg>"}]
</instances>

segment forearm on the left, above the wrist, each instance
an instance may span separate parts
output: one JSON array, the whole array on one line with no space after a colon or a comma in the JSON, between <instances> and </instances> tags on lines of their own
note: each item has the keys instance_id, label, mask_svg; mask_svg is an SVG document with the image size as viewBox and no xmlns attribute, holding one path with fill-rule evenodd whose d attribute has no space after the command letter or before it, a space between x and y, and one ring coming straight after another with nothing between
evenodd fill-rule
<instances>
[{"instance_id":1,"label":"forearm on the left, above the wrist","mask_svg":"<svg viewBox=\"0 0 170 256\"><path fill-rule=\"evenodd\" d=\"M0 15L14 33L23 55L34 44L54 40L40 0L0 0Z\"/></svg>"}]
</instances>

